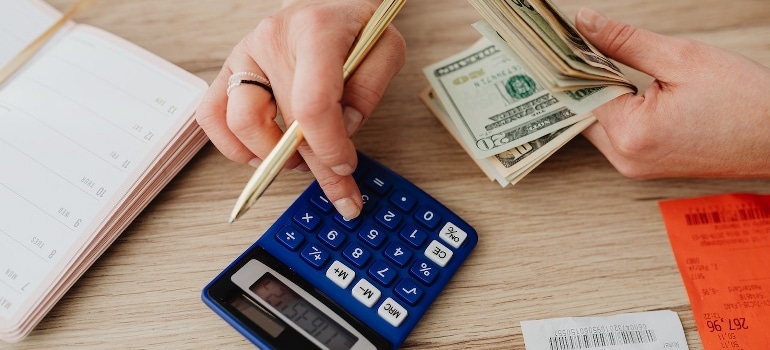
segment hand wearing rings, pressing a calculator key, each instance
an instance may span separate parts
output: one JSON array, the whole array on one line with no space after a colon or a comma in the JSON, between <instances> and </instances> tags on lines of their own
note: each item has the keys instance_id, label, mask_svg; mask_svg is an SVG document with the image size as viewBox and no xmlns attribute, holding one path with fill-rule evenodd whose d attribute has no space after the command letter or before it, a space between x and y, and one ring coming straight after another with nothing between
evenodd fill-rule
<instances>
[{"instance_id":1,"label":"hand wearing rings, pressing a calculator key","mask_svg":"<svg viewBox=\"0 0 770 350\"><path fill-rule=\"evenodd\" d=\"M312 170L326 196L346 218L363 202L351 174L357 165L350 136L374 111L404 65L406 45L392 26L347 84L342 66L355 38L379 2L304 0L264 19L235 46L198 108L196 118L229 159L257 167L280 140L276 122L300 123L305 142L286 168ZM271 83L274 96L242 84L226 94L228 78L254 72Z\"/></svg>"}]
</instances>

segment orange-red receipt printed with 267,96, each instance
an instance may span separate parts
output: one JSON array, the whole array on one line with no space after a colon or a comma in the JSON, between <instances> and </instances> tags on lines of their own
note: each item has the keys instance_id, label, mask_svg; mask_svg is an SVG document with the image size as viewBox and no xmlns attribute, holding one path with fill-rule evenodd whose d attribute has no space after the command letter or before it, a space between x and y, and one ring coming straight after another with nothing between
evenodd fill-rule
<instances>
[{"instance_id":1,"label":"orange-red receipt printed with 267,96","mask_svg":"<svg viewBox=\"0 0 770 350\"><path fill-rule=\"evenodd\" d=\"M770 195L660 202L708 350L770 348Z\"/></svg>"}]
</instances>

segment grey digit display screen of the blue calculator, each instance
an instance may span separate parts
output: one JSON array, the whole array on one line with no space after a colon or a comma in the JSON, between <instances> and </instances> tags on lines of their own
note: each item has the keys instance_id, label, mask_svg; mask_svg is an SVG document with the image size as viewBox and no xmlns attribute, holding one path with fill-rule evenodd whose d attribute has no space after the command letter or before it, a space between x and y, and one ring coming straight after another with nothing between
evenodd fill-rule
<instances>
[{"instance_id":1,"label":"grey digit display screen of the blue calculator","mask_svg":"<svg viewBox=\"0 0 770 350\"><path fill-rule=\"evenodd\" d=\"M358 341L353 334L270 273L262 275L250 289L297 327L331 350L348 350Z\"/></svg>"}]
</instances>

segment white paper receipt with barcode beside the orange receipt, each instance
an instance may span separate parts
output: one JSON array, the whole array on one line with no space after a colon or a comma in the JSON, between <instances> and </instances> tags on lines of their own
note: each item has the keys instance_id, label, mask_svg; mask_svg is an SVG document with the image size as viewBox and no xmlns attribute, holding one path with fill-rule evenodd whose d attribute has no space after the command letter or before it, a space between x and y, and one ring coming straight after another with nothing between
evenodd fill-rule
<instances>
[{"instance_id":1,"label":"white paper receipt with barcode beside the orange receipt","mask_svg":"<svg viewBox=\"0 0 770 350\"><path fill-rule=\"evenodd\" d=\"M688 349L679 315L670 310L521 321L521 332L527 350Z\"/></svg>"}]
</instances>

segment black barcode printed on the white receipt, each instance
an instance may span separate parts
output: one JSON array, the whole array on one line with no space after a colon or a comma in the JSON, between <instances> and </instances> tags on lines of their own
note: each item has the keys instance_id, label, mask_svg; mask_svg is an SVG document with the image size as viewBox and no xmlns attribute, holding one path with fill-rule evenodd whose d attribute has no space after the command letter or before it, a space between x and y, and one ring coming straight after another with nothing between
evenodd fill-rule
<instances>
[{"instance_id":1,"label":"black barcode printed on the white receipt","mask_svg":"<svg viewBox=\"0 0 770 350\"><path fill-rule=\"evenodd\" d=\"M575 350L614 345L646 344L654 343L657 340L658 338L653 330L566 335L548 339L551 350Z\"/></svg>"}]
</instances>

